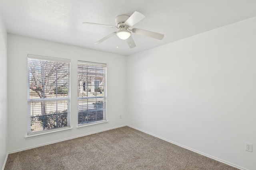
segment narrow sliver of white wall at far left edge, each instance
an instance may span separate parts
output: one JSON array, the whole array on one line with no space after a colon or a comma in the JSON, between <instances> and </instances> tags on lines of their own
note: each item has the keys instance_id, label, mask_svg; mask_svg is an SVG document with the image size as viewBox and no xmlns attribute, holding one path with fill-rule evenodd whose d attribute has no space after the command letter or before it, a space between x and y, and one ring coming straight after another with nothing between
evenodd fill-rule
<instances>
[{"instance_id":1,"label":"narrow sliver of white wall at far left edge","mask_svg":"<svg viewBox=\"0 0 256 170\"><path fill-rule=\"evenodd\" d=\"M0 13L0 168L7 156L7 32Z\"/></svg>"}]
</instances>

